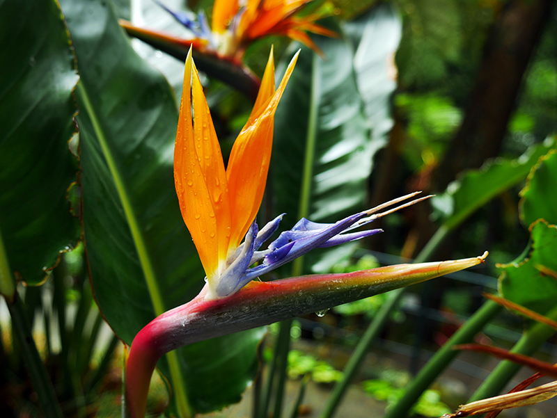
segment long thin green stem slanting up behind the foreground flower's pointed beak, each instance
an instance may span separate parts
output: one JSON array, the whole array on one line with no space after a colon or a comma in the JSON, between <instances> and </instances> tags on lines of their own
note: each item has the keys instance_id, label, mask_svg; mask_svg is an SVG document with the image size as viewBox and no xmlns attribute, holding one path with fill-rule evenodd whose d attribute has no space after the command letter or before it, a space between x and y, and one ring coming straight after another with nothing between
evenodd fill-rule
<instances>
[{"instance_id":1,"label":"long thin green stem slanting up behind the foreground flower's pointed beak","mask_svg":"<svg viewBox=\"0 0 557 418\"><path fill-rule=\"evenodd\" d=\"M432 239L427 242L426 246L423 250L421 250L414 262L421 263L425 259L431 257L435 249L446 238L449 232L450 230L448 228L441 226L434 236L432 236ZM350 359L343 370L343 379L338 381L333 389L333 392L331 392L331 395L327 399L327 404L325 405L320 418L331 418L336 412L336 409L340 405L348 386L352 383L352 380L354 380L363 358L366 356L366 353L368 353L372 342L375 341L377 335L379 335L379 332L383 329L386 321L389 319L391 310L396 307L398 301L402 297L402 294L404 294L405 289L405 287L401 287L400 289L391 291L389 293L389 298L387 298L382 307L377 311L377 314L373 317L373 320L370 325L368 325L368 328L366 329L366 332L364 332L360 341L358 341L358 345L354 349L354 353L350 356Z\"/></svg>"}]
</instances>

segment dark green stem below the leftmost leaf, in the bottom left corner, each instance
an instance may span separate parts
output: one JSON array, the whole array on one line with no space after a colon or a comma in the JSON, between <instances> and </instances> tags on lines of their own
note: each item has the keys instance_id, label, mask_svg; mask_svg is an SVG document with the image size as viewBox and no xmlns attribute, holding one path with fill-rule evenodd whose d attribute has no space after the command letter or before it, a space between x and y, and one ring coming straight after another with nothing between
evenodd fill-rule
<instances>
[{"instance_id":1,"label":"dark green stem below the leftmost leaf, in the bottom left corner","mask_svg":"<svg viewBox=\"0 0 557 418\"><path fill-rule=\"evenodd\" d=\"M29 377L33 383L33 388L37 392L40 408L47 418L62 418L54 387L52 387L48 377L45 364L42 364L42 360L40 360L37 346L33 340L33 335L31 335L31 328L25 320L22 300L17 293L13 303L8 303L8 309L12 317L12 330L19 341Z\"/></svg>"}]
</instances>

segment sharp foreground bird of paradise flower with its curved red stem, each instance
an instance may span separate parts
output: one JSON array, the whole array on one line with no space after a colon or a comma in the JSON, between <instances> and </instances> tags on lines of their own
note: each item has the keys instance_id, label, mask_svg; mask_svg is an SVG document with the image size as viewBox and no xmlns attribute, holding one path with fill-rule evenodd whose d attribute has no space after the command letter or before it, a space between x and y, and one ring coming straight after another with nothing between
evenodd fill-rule
<instances>
[{"instance_id":1,"label":"sharp foreground bird of paradise flower with its curved red stem","mask_svg":"<svg viewBox=\"0 0 557 418\"><path fill-rule=\"evenodd\" d=\"M335 246L381 232L350 231L427 198L388 209L417 194L411 193L331 224L302 218L292 230L279 234L266 250L260 250L282 218L278 216L260 230L255 219L269 169L274 113L296 60L297 55L275 90L272 54L269 57L256 104L235 141L225 169L189 51L174 150L174 175L180 210L205 269L206 284L196 298L158 316L134 338L125 371L125 397L133 418L144 416L150 377L159 358L168 351L452 273L474 266L487 256L485 253L482 257L450 262L400 264L273 282L252 281L313 248Z\"/></svg>"}]
</instances>

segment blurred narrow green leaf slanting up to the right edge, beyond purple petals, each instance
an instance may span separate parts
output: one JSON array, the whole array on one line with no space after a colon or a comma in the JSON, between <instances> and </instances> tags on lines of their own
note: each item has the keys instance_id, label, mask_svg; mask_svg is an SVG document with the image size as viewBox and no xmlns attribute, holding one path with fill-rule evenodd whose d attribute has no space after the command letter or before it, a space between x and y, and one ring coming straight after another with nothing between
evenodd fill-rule
<instances>
[{"instance_id":1,"label":"blurred narrow green leaf slanting up to the right edge, beyond purple petals","mask_svg":"<svg viewBox=\"0 0 557 418\"><path fill-rule=\"evenodd\" d=\"M449 184L447 191L432 198L432 204L444 216L449 229L460 225L473 211L497 195L524 181L540 156L555 147L554 140L531 147L517 159L495 159L478 170L469 170Z\"/></svg>"}]
</instances>

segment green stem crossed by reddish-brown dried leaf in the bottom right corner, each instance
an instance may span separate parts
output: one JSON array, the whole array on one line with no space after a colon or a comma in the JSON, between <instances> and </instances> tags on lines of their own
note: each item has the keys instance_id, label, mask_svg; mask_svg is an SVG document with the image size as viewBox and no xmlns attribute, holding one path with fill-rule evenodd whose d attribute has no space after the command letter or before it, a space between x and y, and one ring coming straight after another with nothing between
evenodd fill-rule
<instances>
[{"instance_id":1,"label":"green stem crossed by reddish-brown dried leaf in the bottom right corner","mask_svg":"<svg viewBox=\"0 0 557 418\"><path fill-rule=\"evenodd\" d=\"M557 308L551 310L546 316L549 319L557 320ZM528 331L524 332L510 352L533 355L533 353L538 351L538 348L554 334L554 328L543 323L535 323ZM474 392L469 402L479 401L480 399L490 398L499 394L521 367L520 364L508 360L503 360L497 364L497 367L487 376L487 379L483 381L476 392Z\"/></svg>"}]
</instances>

